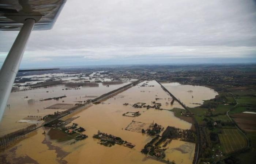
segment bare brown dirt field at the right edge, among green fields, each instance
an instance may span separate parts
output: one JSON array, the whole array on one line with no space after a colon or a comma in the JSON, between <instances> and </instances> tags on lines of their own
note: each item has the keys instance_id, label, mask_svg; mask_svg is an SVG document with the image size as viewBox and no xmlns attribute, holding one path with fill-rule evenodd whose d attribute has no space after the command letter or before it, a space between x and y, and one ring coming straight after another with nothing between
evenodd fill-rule
<instances>
[{"instance_id":1,"label":"bare brown dirt field at the right edge, among green fields","mask_svg":"<svg viewBox=\"0 0 256 164\"><path fill-rule=\"evenodd\" d=\"M247 132L256 132L256 114L236 113L230 115L238 126Z\"/></svg>"}]
</instances>

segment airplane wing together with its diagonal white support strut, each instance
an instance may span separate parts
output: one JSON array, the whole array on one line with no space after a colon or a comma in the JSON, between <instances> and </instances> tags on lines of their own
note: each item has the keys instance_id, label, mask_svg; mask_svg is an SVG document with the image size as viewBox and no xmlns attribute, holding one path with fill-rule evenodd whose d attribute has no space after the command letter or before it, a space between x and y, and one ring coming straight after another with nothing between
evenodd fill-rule
<instances>
[{"instance_id":1,"label":"airplane wing together with its diagonal white support strut","mask_svg":"<svg viewBox=\"0 0 256 164\"><path fill-rule=\"evenodd\" d=\"M0 0L0 30L20 31L0 70L0 121L32 30L52 29L66 0Z\"/></svg>"}]
</instances>

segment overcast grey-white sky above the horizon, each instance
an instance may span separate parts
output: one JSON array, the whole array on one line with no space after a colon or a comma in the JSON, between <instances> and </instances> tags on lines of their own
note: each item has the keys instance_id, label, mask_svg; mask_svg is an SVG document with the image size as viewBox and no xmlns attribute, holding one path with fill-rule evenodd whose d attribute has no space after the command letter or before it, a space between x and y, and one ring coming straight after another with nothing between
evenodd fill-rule
<instances>
[{"instance_id":1,"label":"overcast grey-white sky above the horizon","mask_svg":"<svg viewBox=\"0 0 256 164\"><path fill-rule=\"evenodd\" d=\"M0 31L0 66L17 35ZM220 62L256 62L255 1L68 0L20 67Z\"/></svg>"}]
</instances>

